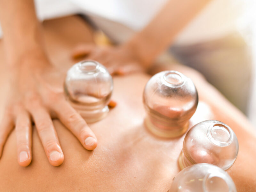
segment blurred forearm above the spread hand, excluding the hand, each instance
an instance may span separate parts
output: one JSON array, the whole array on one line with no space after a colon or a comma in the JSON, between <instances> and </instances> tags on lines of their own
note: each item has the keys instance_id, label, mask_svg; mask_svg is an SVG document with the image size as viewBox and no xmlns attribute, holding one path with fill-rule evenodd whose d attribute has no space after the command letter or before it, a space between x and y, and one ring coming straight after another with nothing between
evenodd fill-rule
<instances>
[{"instance_id":1,"label":"blurred forearm above the spread hand, excluding the hand","mask_svg":"<svg viewBox=\"0 0 256 192\"><path fill-rule=\"evenodd\" d=\"M0 21L8 61L43 50L33 0L0 0Z\"/></svg>"}]
</instances>

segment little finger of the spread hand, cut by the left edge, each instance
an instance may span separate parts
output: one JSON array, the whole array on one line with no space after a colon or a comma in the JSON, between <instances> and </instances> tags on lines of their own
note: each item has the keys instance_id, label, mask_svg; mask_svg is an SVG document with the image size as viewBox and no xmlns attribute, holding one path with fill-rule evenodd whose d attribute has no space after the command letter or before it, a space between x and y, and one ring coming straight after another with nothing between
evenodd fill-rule
<instances>
[{"instance_id":1,"label":"little finger of the spread hand, cut by the left edge","mask_svg":"<svg viewBox=\"0 0 256 192\"><path fill-rule=\"evenodd\" d=\"M13 119L9 112L5 112L0 126L0 157L2 156L4 144L10 132L13 129Z\"/></svg>"}]
</instances>

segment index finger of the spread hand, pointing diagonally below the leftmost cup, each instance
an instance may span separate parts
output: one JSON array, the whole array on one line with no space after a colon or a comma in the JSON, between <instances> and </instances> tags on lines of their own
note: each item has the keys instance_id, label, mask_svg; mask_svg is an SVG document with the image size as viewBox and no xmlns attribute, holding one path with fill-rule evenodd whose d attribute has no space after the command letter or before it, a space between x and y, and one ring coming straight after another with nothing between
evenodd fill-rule
<instances>
[{"instance_id":1,"label":"index finger of the spread hand, pointing diagonally below the leftmost cup","mask_svg":"<svg viewBox=\"0 0 256 192\"><path fill-rule=\"evenodd\" d=\"M77 137L87 150L97 147L97 139L85 120L66 100L61 100L53 107L60 121Z\"/></svg>"}]
</instances>

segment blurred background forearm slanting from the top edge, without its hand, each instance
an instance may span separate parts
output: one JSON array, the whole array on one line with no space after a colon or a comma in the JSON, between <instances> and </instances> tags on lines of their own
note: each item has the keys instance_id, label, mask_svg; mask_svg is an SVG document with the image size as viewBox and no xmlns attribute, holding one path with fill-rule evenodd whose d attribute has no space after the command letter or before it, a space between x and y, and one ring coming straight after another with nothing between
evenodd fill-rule
<instances>
[{"instance_id":1,"label":"blurred background forearm slanting from the top edge, without its hand","mask_svg":"<svg viewBox=\"0 0 256 192\"><path fill-rule=\"evenodd\" d=\"M151 63L210 0L169 0L156 17L127 42L143 63Z\"/></svg>"}]
</instances>

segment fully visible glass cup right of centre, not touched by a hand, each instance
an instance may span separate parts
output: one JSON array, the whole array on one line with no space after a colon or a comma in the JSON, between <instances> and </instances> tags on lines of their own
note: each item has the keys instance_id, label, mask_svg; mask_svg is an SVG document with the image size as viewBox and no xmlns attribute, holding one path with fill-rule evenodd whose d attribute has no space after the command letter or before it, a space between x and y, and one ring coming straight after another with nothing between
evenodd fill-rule
<instances>
[{"instance_id":1,"label":"fully visible glass cup right of centre, not touched by a hand","mask_svg":"<svg viewBox=\"0 0 256 192\"><path fill-rule=\"evenodd\" d=\"M162 71L152 76L143 92L149 131L165 138L178 137L188 129L196 111L198 94L188 77L178 71Z\"/></svg>"}]
</instances>

